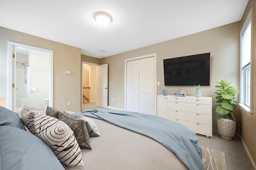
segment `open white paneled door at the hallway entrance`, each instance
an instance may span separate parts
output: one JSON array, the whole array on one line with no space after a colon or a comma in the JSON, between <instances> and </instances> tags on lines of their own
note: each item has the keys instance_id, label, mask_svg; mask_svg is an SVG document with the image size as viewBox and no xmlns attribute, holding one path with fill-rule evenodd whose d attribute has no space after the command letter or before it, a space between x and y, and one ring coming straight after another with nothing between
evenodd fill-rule
<instances>
[{"instance_id":1,"label":"open white paneled door at the hallway entrance","mask_svg":"<svg viewBox=\"0 0 256 170\"><path fill-rule=\"evenodd\" d=\"M108 64L97 66L97 99L98 107L108 107Z\"/></svg>"}]
</instances>

